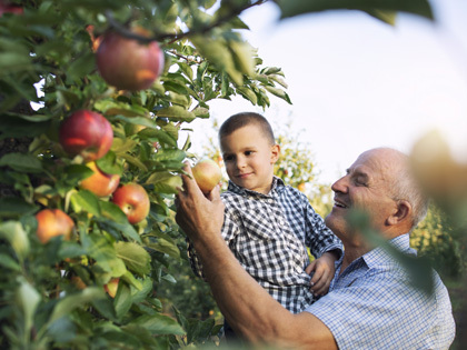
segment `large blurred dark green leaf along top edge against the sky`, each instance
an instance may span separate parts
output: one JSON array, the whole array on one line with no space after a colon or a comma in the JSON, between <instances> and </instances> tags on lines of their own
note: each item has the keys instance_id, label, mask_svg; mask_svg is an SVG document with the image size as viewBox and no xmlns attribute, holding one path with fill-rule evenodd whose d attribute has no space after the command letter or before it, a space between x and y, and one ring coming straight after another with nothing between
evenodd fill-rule
<instances>
[{"instance_id":1,"label":"large blurred dark green leaf along top edge against the sky","mask_svg":"<svg viewBox=\"0 0 467 350\"><path fill-rule=\"evenodd\" d=\"M281 18L294 17L307 12L326 10L362 10L362 11L401 11L434 19L433 10L427 0L275 0L281 10Z\"/></svg>"}]
</instances>

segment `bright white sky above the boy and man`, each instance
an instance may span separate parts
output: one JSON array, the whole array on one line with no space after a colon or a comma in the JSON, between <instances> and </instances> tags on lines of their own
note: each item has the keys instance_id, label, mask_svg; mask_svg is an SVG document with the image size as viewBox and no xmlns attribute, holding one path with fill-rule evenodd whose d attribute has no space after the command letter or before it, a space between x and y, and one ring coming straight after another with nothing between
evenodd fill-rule
<instances>
[{"instance_id":1,"label":"bright white sky above the boy and man","mask_svg":"<svg viewBox=\"0 0 467 350\"><path fill-rule=\"evenodd\" d=\"M403 14L396 27L357 11L321 12L278 22L274 3L248 10L247 40L265 66L282 68L292 106L271 97L264 114L291 120L315 154L319 181L330 183L359 153L380 146L409 152L437 128L467 162L467 1L434 0L436 23ZM248 101L215 101L220 122L257 111ZM210 120L190 127L193 150ZM301 133L298 130L304 130Z\"/></svg>"}]
</instances>

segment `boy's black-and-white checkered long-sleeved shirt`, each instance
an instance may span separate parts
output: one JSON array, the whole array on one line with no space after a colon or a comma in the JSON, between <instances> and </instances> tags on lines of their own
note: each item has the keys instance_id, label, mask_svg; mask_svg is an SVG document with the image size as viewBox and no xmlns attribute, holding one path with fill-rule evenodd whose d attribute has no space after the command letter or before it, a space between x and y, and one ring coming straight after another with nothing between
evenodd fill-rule
<instances>
[{"instance_id":1,"label":"boy's black-and-white checkered long-sleeved shirt","mask_svg":"<svg viewBox=\"0 0 467 350\"><path fill-rule=\"evenodd\" d=\"M342 246L307 197L277 177L268 194L229 181L221 197L226 206L221 233L245 270L294 313L312 303L310 276L305 272L307 247L319 258L330 250L341 252ZM202 277L190 243L188 253L193 272Z\"/></svg>"}]
</instances>

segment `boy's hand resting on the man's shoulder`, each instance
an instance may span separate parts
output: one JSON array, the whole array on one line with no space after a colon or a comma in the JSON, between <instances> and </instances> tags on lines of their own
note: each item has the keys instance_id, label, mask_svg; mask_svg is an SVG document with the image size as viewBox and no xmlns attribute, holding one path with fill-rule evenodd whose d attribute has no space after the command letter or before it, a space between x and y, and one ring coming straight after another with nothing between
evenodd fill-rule
<instances>
[{"instance_id":1,"label":"boy's hand resting on the man's shoulder","mask_svg":"<svg viewBox=\"0 0 467 350\"><path fill-rule=\"evenodd\" d=\"M329 290L330 281L334 278L336 268L334 266L336 256L331 252L325 252L319 259L311 261L311 263L305 269L305 272L310 274L314 272L311 278L310 290L317 297L324 296Z\"/></svg>"}]
</instances>

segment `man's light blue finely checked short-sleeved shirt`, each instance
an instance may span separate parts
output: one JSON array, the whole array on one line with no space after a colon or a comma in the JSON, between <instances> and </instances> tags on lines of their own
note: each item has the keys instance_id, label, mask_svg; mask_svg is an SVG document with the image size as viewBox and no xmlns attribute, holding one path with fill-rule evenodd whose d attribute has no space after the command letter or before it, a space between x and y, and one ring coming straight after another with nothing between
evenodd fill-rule
<instances>
[{"instance_id":1,"label":"man's light blue finely checked short-sleeved shirt","mask_svg":"<svg viewBox=\"0 0 467 350\"><path fill-rule=\"evenodd\" d=\"M409 236L390 241L416 254ZM329 293L306 309L332 332L339 349L448 349L455 323L449 294L435 274L431 296L413 288L407 271L385 250L376 248L339 274Z\"/></svg>"}]
</instances>

